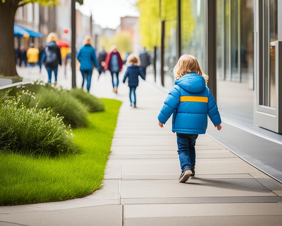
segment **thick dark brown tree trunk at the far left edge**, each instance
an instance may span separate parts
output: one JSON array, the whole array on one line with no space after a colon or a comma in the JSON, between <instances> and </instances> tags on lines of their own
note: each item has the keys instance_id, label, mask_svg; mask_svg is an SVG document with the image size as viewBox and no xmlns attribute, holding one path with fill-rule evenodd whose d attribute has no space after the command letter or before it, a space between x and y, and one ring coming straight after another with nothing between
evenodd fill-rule
<instances>
[{"instance_id":1,"label":"thick dark brown tree trunk at the far left edge","mask_svg":"<svg viewBox=\"0 0 282 226\"><path fill-rule=\"evenodd\" d=\"M14 19L16 6L0 1L0 75L17 77L14 56Z\"/></svg>"}]
</instances>

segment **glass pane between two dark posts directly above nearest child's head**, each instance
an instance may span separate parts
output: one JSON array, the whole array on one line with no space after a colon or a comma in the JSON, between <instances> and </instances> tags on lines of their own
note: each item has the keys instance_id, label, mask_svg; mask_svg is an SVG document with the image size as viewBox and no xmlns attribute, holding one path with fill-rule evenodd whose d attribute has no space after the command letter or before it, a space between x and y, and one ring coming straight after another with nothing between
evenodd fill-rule
<instances>
[{"instance_id":1,"label":"glass pane between two dark posts directly above nearest child's head","mask_svg":"<svg viewBox=\"0 0 282 226\"><path fill-rule=\"evenodd\" d=\"M205 0L181 1L181 54L192 54L206 71Z\"/></svg>"}]
</instances>

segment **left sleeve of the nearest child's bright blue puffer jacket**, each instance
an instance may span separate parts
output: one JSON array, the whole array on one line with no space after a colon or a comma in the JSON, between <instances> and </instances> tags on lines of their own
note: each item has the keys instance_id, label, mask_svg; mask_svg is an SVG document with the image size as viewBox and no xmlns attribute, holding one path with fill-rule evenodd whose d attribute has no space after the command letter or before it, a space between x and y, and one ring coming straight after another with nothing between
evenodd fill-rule
<instances>
[{"instance_id":1,"label":"left sleeve of the nearest child's bright blue puffer jacket","mask_svg":"<svg viewBox=\"0 0 282 226\"><path fill-rule=\"evenodd\" d=\"M162 106L162 109L158 116L158 119L161 123L165 124L165 122L169 119L171 114L177 108L179 104L179 99L180 99L180 93L175 87L173 87L169 91L167 98L164 100L164 105Z\"/></svg>"}]
</instances>

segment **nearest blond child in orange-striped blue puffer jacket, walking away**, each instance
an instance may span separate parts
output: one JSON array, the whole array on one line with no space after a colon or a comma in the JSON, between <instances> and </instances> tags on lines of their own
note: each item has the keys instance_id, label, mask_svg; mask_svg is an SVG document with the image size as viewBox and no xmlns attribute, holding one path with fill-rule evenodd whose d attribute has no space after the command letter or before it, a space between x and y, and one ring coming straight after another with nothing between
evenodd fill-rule
<instances>
[{"instance_id":1,"label":"nearest blond child in orange-striped blue puffer jacket, walking away","mask_svg":"<svg viewBox=\"0 0 282 226\"><path fill-rule=\"evenodd\" d=\"M176 132L181 167L179 182L195 175L195 144L199 134L205 134L207 115L214 127L221 130L221 118L211 91L206 86L208 76L202 72L196 57L182 55L173 69L175 86L170 90L158 116L159 125L172 116L172 132Z\"/></svg>"}]
</instances>

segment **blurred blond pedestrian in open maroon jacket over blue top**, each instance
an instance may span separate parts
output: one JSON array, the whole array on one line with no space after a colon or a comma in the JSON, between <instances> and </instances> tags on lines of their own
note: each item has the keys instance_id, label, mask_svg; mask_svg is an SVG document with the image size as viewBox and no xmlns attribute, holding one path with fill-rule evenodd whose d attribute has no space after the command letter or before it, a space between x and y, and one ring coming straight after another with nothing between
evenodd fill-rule
<instances>
[{"instance_id":1,"label":"blurred blond pedestrian in open maroon jacket over blue top","mask_svg":"<svg viewBox=\"0 0 282 226\"><path fill-rule=\"evenodd\" d=\"M107 54L106 60L105 60L105 71L109 70L112 75L112 83L113 83L113 89L114 92L117 93L117 87L118 87L118 74L122 70L122 59L120 57L120 53L117 51L117 46L112 45L110 48L110 52ZM114 74L117 78L117 82L114 82Z\"/></svg>"}]
</instances>

